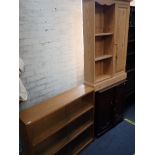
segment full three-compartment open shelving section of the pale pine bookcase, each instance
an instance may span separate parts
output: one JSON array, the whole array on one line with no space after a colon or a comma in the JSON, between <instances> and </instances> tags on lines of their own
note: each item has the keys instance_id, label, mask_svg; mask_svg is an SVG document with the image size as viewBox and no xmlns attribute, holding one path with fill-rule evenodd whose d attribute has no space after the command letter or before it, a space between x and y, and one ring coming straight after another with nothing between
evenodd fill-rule
<instances>
[{"instance_id":1,"label":"full three-compartment open shelving section of the pale pine bookcase","mask_svg":"<svg viewBox=\"0 0 155 155\"><path fill-rule=\"evenodd\" d=\"M95 82L112 76L114 18L114 5L95 2Z\"/></svg>"}]
</instances>

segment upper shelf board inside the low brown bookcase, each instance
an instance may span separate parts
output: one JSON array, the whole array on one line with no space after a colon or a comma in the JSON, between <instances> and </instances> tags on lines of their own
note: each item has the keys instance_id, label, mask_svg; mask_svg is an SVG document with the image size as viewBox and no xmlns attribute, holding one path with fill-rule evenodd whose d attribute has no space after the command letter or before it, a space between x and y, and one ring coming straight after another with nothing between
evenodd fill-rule
<instances>
[{"instance_id":1,"label":"upper shelf board inside the low brown bookcase","mask_svg":"<svg viewBox=\"0 0 155 155\"><path fill-rule=\"evenodd\" d=\"M47 130L46 132L44 132L43 134L41 134L40 136L38 136L37 138L35 138L33 140L33 146L36 146L36 145L40 144L41 142L46 140L48 137L54 135L56 132L60 131L65 126L72 123L75 119L77 119L78 117L80 117L81 115L83 115L84 113L90 111L93 108L94 108L93 105L89 105L89 106L85 107L85 109L83 109L79 113L77 113L75 116L73 116L69 121L66 122L66 124L64 124L62 126L59 126L59 127L55 128L55 129L53 129L53 127L51 127L49 130Z\"/></svg>"}]
</instances>

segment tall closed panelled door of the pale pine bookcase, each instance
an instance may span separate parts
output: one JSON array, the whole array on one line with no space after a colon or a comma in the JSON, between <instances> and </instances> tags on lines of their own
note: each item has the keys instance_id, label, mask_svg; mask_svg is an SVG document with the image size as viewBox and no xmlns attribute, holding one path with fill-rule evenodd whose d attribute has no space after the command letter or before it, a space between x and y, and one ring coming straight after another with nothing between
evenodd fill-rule
<instances>
[{"instance_id":1,"label":"tall closed panelled door of the pale pine bookcase","mask_svg":"<svg viewBox=\"0 0 155 155\"><path fill-rule=\"evenodd\" d=\"M115 22L115 72L125 71L128 23L129 23L129 5L116 4L116 22Z\"/></svg>"}]
</instances>

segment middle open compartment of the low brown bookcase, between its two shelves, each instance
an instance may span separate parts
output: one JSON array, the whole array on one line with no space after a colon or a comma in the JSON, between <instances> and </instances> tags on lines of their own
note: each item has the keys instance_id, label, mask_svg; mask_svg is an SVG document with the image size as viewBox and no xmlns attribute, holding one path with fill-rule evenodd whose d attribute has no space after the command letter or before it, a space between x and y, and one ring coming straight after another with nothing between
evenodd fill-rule
<instances>
[{"instance_id":1,"label":"middle open compartment of the low brown bookcase, between its two shelves","mask_svg":"<svg viewBox=\"0 0 155 155\"><path fill-rule=\"evenodd\" d=\"M49 137L46 142L36 146L37 154L56 154L93 125L93 110L89 110L79 118ZM68 133L68 136L66 136Z\"/></svg>"}]
</instances>

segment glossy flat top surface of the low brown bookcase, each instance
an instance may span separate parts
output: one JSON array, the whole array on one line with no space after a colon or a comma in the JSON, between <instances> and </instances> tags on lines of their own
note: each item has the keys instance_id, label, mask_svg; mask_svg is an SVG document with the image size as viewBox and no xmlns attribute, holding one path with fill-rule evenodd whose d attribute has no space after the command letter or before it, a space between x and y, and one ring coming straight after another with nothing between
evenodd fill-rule
<instances>
[{"instance_id":1,"label":"glossy flat top surface of the low brown bookcase","mask_svg":"<svg viewBox=\"0 0 155 155\"><path fill-rule=\"evenodd\" d=\"M29 109L21 111L19 114L20 120L24 124L30 125L93 91L94 89L92 87L82 84L45 102L41 102Z\"/></svg>"}]
</instances>

